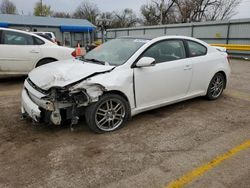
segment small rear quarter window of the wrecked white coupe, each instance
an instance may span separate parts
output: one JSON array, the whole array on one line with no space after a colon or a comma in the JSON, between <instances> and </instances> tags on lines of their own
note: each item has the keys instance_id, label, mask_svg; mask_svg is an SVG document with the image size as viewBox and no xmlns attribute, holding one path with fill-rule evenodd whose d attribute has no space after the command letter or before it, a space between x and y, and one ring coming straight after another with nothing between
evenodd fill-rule
<instances>
[{"instance_id":1,"label":"small rear quarter window of the wrecked white coupe","mask_svg":"<svg viewBox=\"0 0 250 188\"><path fill-rule=\"evenodd\" d=\"M187 44L190 57L202 56L207 54L207 48L202 44L193 41L187 41Z\"/></svg>"}]
</instances>

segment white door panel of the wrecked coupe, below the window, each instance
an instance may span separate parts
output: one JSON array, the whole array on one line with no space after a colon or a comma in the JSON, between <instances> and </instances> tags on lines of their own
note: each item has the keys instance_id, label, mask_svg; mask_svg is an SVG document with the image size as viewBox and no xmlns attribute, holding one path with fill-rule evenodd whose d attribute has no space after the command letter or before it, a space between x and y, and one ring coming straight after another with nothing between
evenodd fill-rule
<instances>
[{"instance_id":1,"label":"white door panel of the wrecked coupe, below the window","mask_svg":"<svg viewBox=\"0 0 250 188\"><path fill-rule=\"evenodd\" d=\"M192 64L180 59L134 69L134 72L136 104L143 108L184 97L192 79ZM161 84L156 84L158 81Z\"/></svg>"}]
</instances>

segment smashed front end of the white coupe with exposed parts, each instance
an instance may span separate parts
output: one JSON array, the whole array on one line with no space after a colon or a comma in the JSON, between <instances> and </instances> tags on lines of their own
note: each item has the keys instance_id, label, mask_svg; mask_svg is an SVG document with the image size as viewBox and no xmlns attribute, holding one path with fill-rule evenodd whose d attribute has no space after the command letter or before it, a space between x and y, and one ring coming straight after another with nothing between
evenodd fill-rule
<instances>
[{"instance_id":1,"label":"smashed front end of the white coupe with exposed parts","mask_svg":"<svg viewBox=\"0 0 250 188\"><path fill-rule=\"evenodd\" d=\"M102 85L88 80L44 91L28 78L22 92L22 114L35 122L60 125L70 119L71 125L74 125L84 115L86 106L98 101L104 92Z\"/></svg>"}]
</instances>

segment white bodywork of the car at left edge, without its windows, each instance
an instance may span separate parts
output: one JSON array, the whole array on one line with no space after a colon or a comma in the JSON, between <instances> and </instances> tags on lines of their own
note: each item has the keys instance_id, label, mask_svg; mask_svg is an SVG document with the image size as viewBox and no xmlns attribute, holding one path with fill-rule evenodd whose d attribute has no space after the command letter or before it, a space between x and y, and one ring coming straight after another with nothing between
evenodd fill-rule
<instances>
[{"instance_id":1,"label":"white bodywork of the car at left edge, without its windows","mask_svg":"<svg viewBox=\"0 0 250 188\"><path fill-rule=\"evenodd\" d=\"M0 44L0 76L26 75L42 59L73 59L73 48L58 46L38 35L14 29L0 28L0 31L13 31L39 38L42 45L6 45Z\"/></svg>"}]
</instances>

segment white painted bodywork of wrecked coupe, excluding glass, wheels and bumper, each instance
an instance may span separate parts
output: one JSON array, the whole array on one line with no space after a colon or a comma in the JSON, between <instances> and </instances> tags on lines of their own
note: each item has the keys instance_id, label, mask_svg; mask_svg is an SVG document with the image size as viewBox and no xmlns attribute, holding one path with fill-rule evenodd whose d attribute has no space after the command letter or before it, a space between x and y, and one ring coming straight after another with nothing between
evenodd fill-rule
<instances>
[{"instance_id":1,"label":"white painted bodywork of wrecked coupe, excluding glass, wheels and bumper","mask_svg":"<svg viewBox=\"0 0 250 188\"><path fill-rule=\"evenodd\" d=\"M145 49L158 41L167 39L196 41L207 48L207 55L163 62L150 67L132 67ZM59 67L60 63L62 66ZM227 81L230 74L225 52L218 51L198 39L184 36L152 39L136 51L126 63L118 67L72 60L60 63L34 69L29 73L29 78L44 90L49 90L51 87L65 87L81 80L72 86L71 90L89 89L95 86L88 92L90 98L93 97L95 100L98 100L98 95L101 96L104 92L119 92L129 101L132 116L168 104L204 96L212 77L217 72L222 71ZM95 75L91 76L92 74Z\"/></svg>"}]
</instances>

